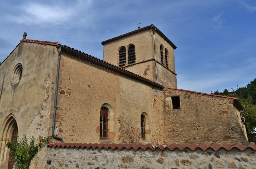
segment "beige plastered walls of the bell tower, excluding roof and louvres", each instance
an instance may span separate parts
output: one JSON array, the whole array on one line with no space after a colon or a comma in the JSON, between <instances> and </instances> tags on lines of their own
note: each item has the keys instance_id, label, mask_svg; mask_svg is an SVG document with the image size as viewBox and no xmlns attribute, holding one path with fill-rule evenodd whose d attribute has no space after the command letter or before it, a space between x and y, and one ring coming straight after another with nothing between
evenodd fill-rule
<instances>
[{"instance_id":1,"label":"beige plastered walls of the bell tower, excluding roof and louvres","mask_svg":"<svg viewBox=\"0 0 256 169\"><path fill-rule=\"evenodd\" d=\"M132 65L128 65L128 61L126 61L126 66L123 66L123 68L147 79L156 81L156 70L154 61L154 35L150 29L104 44L104 61L119 66L119 49L121 48L121 46L126 47L127 58L127 49L129 47L129 44L133 44L135 46L136 61L135 64ZM168 49L168 68L161 65L160 45L163 45L164 49ZM157 75L159 76L159 83L166 87L177 88L177 79L176 75L174 74L174 49L157 33L156 58L157 61L160 63L157 63ZM170 70L174 73L172 73Z\"/></svg>"}]
</instances>

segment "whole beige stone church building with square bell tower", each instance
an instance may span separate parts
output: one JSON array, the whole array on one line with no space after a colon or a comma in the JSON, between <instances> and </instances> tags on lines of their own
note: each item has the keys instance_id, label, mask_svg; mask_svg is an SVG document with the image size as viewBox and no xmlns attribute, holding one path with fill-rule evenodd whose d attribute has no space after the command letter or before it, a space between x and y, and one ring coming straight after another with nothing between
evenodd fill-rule
<instances>
[{"instance_id":1,"label":"whole beige stone church building with square bell tower","mask_svg":"<svg viewBox=\"0 0 256 169\"><path fill-rule=\"evenodd\" d=\"M59 144L248 144L237 98L178 89L177 47L156 26L102 45L100 60L24 35L0 65L0 168L13 165L6 142L14 135L53 135L49 143ZM46 151L34 166L45 169Z\"/></svg>"}]
</instances>

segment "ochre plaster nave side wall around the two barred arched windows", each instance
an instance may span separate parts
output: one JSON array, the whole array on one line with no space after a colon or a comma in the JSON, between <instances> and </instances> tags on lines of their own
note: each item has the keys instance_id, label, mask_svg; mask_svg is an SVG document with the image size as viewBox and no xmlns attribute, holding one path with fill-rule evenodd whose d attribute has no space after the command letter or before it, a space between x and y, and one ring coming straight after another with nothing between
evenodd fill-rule
<instances>
[{"instance_id":1,"label":"ochre plaster nave side wall around the two barred arched windows","mask_svg":"<svg viewBox=\"0 0 256 169\"><path fill-rule=\"evenodd\" d=\"M55 62L54 72L56 67ZM54 97L50 119L53 104ZM161 89L62 51L55 134L65 142L140 143L140 117L146 113L148 126L144 142L157 143L160 129L157 119L163 113L162 104ZM99 139L103 106L109 109L108 140Z\"/></svg>"}]
</instances>

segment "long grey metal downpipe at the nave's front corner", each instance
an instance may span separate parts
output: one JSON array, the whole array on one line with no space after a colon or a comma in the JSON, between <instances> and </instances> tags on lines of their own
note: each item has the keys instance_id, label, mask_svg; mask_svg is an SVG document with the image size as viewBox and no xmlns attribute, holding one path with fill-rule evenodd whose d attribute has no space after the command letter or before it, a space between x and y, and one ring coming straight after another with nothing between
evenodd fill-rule
<instances>
[{"instance_id":1,"label":"long grey metal downpipe at the nave's front corner","mask_svg":"<svg viewBox=\"0 0 256 169\"><path fill-rule=\"evenodd\" d=\"M55 119L56 119L56 106L57 106L57 96L58 96L58 86L59 86L59 74L60 74L60 54L61 54L61 46L59 47L59 57L58 57L58 67L57 67L57 77L56 77L56 86L55 86L55 98L54 98L54 107L53 107L53 126L52 126L52 136L55 139L58 139L63 143L63 138L55 136Z\"/></svg>"}]
</instances>

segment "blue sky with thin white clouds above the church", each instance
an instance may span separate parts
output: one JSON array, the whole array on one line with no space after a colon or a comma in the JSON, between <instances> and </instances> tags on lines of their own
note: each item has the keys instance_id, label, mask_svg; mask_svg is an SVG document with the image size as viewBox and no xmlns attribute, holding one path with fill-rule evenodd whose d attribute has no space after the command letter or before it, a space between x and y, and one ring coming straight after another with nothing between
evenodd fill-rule
<instances>
[{"instance_id":1,"label":"blue sky with thin white clouds above the church","mask_svg":"<svg viewBox=\"0 0 256 169\"><path fill-rule=\"evenodd\" d=\"M210 93L256 78L255 0L3 1L0 59L24 32L102 59L101 41L137 29L139 21L153 23L177 46L178 88Z\"/></svg>"}]
</instances>

